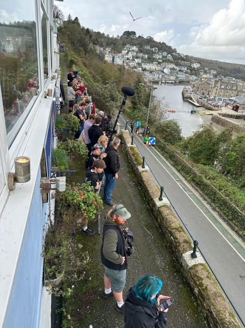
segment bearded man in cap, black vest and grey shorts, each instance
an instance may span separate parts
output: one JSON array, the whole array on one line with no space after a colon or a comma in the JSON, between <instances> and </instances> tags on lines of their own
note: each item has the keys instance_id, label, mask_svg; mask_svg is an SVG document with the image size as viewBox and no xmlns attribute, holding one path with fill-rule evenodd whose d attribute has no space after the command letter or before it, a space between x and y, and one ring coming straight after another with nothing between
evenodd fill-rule
<instances>
[{"instance_id":1,"label":"bearded man in cap, black vest and grey shorts","mask_svg":"<svg viewBox=\"0 0 245 328\"><path fill-rule=\"evenodd\" d=\"M131 214L118 204L106 215L100 256L105 267L103 298L114 295L116 309L124 313L123 288L126 281L127 255L122 226Z\"/></svg>"}]
</instances>

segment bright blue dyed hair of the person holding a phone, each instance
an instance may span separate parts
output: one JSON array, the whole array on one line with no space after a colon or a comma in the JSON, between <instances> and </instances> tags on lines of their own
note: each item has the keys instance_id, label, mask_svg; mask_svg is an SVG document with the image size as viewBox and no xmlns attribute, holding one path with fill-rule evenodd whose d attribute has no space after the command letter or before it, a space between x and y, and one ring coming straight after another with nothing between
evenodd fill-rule
<instances>
[{"instance_id":1,"label":"bright blue dyed hair of the person holding a phone","mask_svg":"<svg viewBox=\"0 0 245 328\"><path fill-rule=\"evenodd\" d=\"M155 299L151 299L151 297L160 291L162 284L162 281L155 275L145 275L136 281L133 287L134 294L147 303L153 303Z\"/></svg>"}]
</instances>

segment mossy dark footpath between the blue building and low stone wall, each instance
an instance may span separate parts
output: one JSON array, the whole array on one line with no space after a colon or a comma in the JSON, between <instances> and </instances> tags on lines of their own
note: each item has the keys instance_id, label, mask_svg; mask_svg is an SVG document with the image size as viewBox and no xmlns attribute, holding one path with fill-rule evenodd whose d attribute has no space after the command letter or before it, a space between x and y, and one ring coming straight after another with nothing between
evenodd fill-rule
<instances>
[{"instance_id":1,"label":"mossy dark footpath between the blue building and low stone wall","mask_svg":"<svg viewBox=\"0 0 245 328\"><path fill-rule=\"evenodd\" d=\"M119 148L121 168L113 192L113 201L123 204L131 213L125 226L134 234L135 252L128 258L128 270L124 296L137 279L152 273L163 281L161 292L170 295L173 305L168 312L168 328L207 327L171 250L165 242L147 202L132 174L126 157ZM105 206L101 213L101 231L105 214L111 209ZM89 226L98 232L97 223ZM103 266L100 262L102 235L93 237L78 233L75 237L90 256L85 277L73 288L70 298L63 300L64 318L73 328L123 328L123 315L116 311L115 300L102 298ZM70 318L70 319L69 319Z\"/></svg>"}]
</instances>

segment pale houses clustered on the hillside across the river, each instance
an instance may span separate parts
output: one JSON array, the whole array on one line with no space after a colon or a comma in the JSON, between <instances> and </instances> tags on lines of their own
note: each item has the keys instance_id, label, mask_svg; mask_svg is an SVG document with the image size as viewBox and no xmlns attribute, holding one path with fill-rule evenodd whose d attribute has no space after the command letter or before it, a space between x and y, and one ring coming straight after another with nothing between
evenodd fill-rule
<instances>
[{"instance_id":1,"label":"pale houses clustered on the hillside across the river","mask_svg":"<svg viewBox=\"0 0 245 328\"><path fill-rule=\"evenodd\" d=\"M149 45L141 48L140 52L139 47L126 44L120 54L109 47L93 47L101 59L141 72L146 81L192 82L193 90L198 95L224 98L245 96L244 81L229 76L218 76L216 70L201 67L199 62L188 61L185 55L179 53L171 55L156 47L150 48ZM144 49L148 54L151 51L151 60L148 59L149 55L144 53Z\"/></svg>"}]
</instances>

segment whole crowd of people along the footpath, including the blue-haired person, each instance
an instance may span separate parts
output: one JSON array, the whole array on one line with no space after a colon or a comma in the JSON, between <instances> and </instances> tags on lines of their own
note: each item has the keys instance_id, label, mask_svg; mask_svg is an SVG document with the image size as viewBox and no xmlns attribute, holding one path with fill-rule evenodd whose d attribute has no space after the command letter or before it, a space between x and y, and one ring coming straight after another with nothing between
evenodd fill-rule
<instances>
[{"instance_id":1,"label":"whole crowd of people along the footpath, including the blue-haired person","mask_svg":"<svg viewBox=\"0 0 245 328\"><path fill-rule=\"evenodd\" d=\"M123 300L128 256L123 225L131 214L123 204L115 204L112 200L112 192L119 178L118 148L121 140L115 137L108 145L108 135L112 133L112 125L108 122L111 122L112 117L104 116L102 111L96 114L95 106L91 99L88 99L87 89L81 81L77 89L79 79L76 80L74 81L73 72L70 71L68 73L69 112L80 121L75 139L84 142L88 149L86 179L93 186L95 193L99 193L103 185L103 201L112 208L105 217L100 249L101 262L104 266L102 297L106 299L114 296L116 310L124 314L124 328L166 328L168 308L161 307L160 302L170 297L160 294L162 281L156 276L146 275L140 278L128 291L125 301ZM75 99L78 97L80 101L76 103ZM132 120L131 132L134 125L135 121ZM141 122L138 119L137 133L140 127ZM87 224L88 222L82 228L82 233L93 236L95 231L89 229Z\"/></svg>"}]
</instances>

